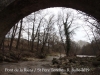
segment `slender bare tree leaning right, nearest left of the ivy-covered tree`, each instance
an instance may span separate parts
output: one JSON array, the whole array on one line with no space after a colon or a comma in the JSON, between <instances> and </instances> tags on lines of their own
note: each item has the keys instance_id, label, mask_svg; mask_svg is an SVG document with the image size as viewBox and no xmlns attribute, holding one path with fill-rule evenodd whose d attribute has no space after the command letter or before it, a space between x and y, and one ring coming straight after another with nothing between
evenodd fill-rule
<instances>
[{"instance_id":1,"label":"slender bare tree leaning right, nearest left of the ivy-covered tree","mask_svg":"<svg viewBox=\"0 0 100 75\"><path fill-rule=\"evenodd\" d=\"M46 23L44 25L44 31L43 31L43 35L42 35L42 47L41 47L41 51L40 51L41 57L45 56L45 53L44 53L45 45L47 44L49 46L48 40L50 39L49 38L50 31L52 30L52 26L55 23L55 21L53 21L53 18L54 18L54 15L51 15L48 20L45 19Z\"/></svg>"}]
</instances>

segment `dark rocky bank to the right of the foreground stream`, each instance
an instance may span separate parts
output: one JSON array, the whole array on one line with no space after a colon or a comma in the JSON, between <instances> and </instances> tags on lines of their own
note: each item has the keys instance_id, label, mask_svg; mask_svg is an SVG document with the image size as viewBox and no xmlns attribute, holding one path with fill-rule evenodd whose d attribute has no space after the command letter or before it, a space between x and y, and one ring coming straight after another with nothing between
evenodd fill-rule
<instances>
[{"instance_id":1,"label":"dark rocky bank to the right of the foreground stream","mask_svg":"<svg viewBox=\"0 0 100 75\"><path fill-rule=\"evenodd\" d=\"M66 71L60 75L100 75L100 58L97 57L62 57L53 58L54 67L62 68Z\"/></svg>"}]
</instances>

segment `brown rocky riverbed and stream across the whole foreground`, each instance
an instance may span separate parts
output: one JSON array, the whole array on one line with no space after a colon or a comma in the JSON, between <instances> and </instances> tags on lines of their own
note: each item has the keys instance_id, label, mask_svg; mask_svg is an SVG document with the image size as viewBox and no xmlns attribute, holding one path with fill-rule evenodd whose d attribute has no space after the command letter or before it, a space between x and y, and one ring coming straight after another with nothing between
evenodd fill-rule
<instances>
[{"instance_id":1,"label":"brown rocky riverbed and stream across the whole foreground","mask_svg":"<svg viewBox=\"0 0 100 75\"><path fill-rule=\"evenodd\" d=\"M100 58L48 56L0 63L0 75L100 75ZM13 69L13 70L12 70Z\"/></svg>"}]
</instances>

